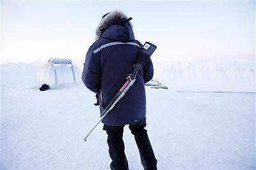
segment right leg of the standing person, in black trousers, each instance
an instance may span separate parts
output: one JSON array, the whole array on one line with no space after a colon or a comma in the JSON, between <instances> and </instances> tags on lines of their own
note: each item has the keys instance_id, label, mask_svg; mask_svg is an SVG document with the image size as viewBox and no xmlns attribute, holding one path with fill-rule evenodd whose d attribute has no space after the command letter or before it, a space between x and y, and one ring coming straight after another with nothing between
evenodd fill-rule
<instances>
[{"instance_id":1,"label":"right leg of the standing person, in black trousers","mask_svg":"<svg viewBox=\"0 0 256 170\"><path fill-rule=\"evenodd\" d=\"M157 169L157 160L148 139L147 130L145 130L146 125L146 118L144 118L135 124L129 125L129 128L134 135L136 144L140 151L141 164L144 169Z\"/></svg>"}]
</instances>

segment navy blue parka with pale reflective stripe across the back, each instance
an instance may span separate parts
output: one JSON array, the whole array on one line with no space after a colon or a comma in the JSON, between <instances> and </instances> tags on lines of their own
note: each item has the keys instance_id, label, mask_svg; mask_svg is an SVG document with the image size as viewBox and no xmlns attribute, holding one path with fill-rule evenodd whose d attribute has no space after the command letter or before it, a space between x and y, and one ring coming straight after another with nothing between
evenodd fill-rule
<instances>
[{"instance_id":1,"label":"navy blue parka with pale reflective stripe across the back","mask_svg":"<svg viewBox=\"0 0 256 170\"><path fill-rule=\"evenodd\" d=\"M122 87L141 50L130 24L113 24L92 44L86 54L82 79L87 88L100 95L104 111ZM102 123L120 126L136 123L146 116L145 83L153 77L151 59L143 67L125 96L109 111Z\"/></svg>"}]
</instances>

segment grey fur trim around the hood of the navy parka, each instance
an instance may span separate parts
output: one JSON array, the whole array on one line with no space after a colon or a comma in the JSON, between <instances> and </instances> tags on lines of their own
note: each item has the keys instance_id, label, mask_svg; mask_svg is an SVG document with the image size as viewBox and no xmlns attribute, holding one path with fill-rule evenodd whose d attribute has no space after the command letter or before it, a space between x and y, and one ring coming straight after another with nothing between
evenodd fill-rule
<instances>
[{"instance_id":1,"label":"grey fur trim around the hood of the navy parka","mask_svg":"<svg viewBox=\"0 0 256 170\"><path fill-rule=\"evenodd\" d=\"M106 29L113 20L122 20L122 19L128 19L127 15L125 15L124 12L121 12L119 10L115 10L112 12L109 12L105 17L103 17L100 22L99 26L96 29L96 36L95 40L99 40L102 37L103 32L101 30ZM131 21L127 23L129 26L132 27Z\"/></svg>"}]
</instances>

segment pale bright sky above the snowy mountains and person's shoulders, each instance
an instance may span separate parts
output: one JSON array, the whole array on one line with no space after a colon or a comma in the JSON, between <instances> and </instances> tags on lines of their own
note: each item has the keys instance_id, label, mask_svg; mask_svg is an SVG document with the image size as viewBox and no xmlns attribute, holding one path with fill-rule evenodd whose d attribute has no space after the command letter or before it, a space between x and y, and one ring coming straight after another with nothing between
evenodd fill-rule
<instances>
[{"instance_id":1,"label":"pale bright sky above the snowy mountains and person's shoulders","mask_svg":"<svg viewBox=\"0 0 256 170\"><path fill-rule=\"evenodd\" d=\"M100 18L116 9L132 17L137 40L157 45L154 61L255 62L255 1L3 1L1 60L84 60Z\"/></svg>"}]
</instances>

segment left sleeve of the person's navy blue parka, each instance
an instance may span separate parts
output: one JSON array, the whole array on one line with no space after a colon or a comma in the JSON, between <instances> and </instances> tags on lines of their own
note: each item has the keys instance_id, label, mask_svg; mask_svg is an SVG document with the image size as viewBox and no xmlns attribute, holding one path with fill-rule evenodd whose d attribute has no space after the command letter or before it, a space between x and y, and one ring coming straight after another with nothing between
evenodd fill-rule
<instances>
[{"instance_id":1,"label":"left sleeve of the person's navy blue parka","mask_svg":"<svg viewBox=\"0 0 256 170\"><path fill-rule=\"evenodd\" d=\"M88 50L84 62L82 80L84 85L94 93L100 92L100 56L93 53L92 46Z\"/></svg>"}]
</instances>

